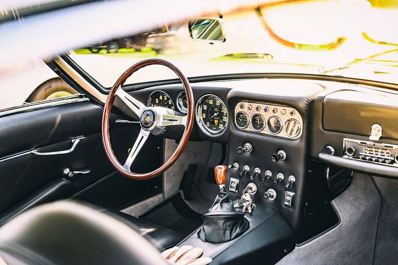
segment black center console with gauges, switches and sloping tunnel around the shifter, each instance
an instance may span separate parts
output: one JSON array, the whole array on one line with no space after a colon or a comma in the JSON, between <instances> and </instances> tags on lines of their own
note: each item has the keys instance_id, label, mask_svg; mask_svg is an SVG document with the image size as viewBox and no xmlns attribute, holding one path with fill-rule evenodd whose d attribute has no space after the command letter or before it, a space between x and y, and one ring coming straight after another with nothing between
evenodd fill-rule
<instances>
[{"instance_id":1,"label":"black center console with gauges, switches and sloping tunnel around the shifter","mask_svg":"<svg viewBox=\"0 0 398 265\"><path fill-rule=\"evenodd\" d=\"M227 95L228 115L233 120L229 122L227 179L220 191L229 193L234 207L250 195L255 207L244 214L248 228L226 242L207 242L205 214L204 226L179 246L203 248L204 256L213 259L211 264L275 264L294 249L294 233L303 219L310 103L322 88L278 80L242 84L245 87L237 83ZM212 208L208 213L214 213ZM237 211L243 209L247 208Z\"/></svg>"}]
</instances>

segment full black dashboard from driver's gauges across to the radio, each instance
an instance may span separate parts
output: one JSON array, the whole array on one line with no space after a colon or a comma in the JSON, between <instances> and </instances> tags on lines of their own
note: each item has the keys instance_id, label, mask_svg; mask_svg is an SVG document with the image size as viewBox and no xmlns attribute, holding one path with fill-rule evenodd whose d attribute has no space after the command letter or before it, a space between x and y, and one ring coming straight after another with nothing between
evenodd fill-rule
<instances>
[{"instance_id":1,"label":"full black dashboard from driver's gauges across to the radio","mask_svg":"<svg viewBox=\"0 0 398 265\"><path fill-rule=\"evenodd\" d=\"M380 167L387 168L386 174L391 174L392 168L398 170L398 133L394 127L398 115L391 115L398 113L398 95L391 91L285 79L204 82L191 87L195 123L190 140L227 146L231 198L240 198L252 185L253 202L278 209L294 230L318 207L304 202L310 198L322 198L322 205L330 201L349 185L352 169L368 172L377 165L374 172L378 174L382 174ZM132 93L148 106L187 113L181 85ZM387 98L390 103L385 102ZM372 110L375 103L377 113ZM364 111L372 115L363 116ZM374 124L383 128L381 142L369 141ZM334 150L333 161L321 159L325 146ZM323 190L311 188L308 183L313 177L323 179Z\"/></svg>"}]
</instances>

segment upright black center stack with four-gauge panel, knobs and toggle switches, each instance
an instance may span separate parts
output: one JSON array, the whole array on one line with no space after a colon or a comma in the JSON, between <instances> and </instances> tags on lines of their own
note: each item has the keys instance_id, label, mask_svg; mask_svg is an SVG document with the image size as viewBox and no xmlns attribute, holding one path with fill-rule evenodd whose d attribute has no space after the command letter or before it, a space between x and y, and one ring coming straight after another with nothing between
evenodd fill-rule
<instances>
[{"instance_id":1,"label":"upright black center stack with four-gauge panel, knobs and toggle switches","mask_svg":"<svg viewBox=\"0 0 398 265\"><path fill-rule=\"evenodd\" d=\"M233 199L247 190L257 206L277 209L293 230L303 219L310 103L321 89L307 82L274 80L233 88L227 97L234 117L227 190Z\"/></svg>"}]
</instances>

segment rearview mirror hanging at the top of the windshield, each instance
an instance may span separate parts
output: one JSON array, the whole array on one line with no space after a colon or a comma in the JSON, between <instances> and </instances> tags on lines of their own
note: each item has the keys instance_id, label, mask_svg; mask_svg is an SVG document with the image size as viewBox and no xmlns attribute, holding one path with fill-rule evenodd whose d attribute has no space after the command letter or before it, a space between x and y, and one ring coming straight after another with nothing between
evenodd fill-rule
<instances>
[{"instance_id":1,"label":"rearview mirror hanging at the top of the windshield","mask_svg":"<svg viewBox=\"0 0 398 265\"><path fill-rule=\"evenodd\" d=\"M225 34L220 18L195 18L190 20L190 38L209 43L224 42Z\"/></svg>"}]
</instances>

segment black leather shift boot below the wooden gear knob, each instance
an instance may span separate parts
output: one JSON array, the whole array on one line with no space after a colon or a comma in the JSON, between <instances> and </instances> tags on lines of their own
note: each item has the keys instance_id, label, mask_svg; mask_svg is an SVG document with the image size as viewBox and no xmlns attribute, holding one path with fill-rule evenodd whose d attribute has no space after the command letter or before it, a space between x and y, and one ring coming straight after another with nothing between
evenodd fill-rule
<instances>
[{"instance_id":1,"label":"black leather shift boot below the wooden gear knob","mask_svg":"<svg viewBox=\"0 0 398 265\"><path fill-rule=\"evenodd\" d=\"M249 228L249 222L243 212L236 211L229 194L222 189L213 205L202 216L203 227L199 237L206 242L221 243L232 240Z\"/></svg>"}]
</instances>

